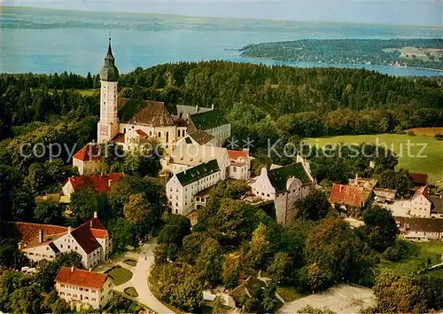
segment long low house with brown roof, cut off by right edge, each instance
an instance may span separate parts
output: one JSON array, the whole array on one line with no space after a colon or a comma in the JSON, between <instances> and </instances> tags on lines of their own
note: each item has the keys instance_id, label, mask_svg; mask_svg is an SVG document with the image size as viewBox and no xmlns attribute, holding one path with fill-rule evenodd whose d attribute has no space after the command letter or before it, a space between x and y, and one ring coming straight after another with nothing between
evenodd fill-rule
<instances>
[{"instance_id":1,"label":"long low house with brown roof, cut off by right edge","mask_svg":"<svg viewBox=\"0 0 443 314\"><path fill-rule=\"evenodd\" d=\"M394 217L400 236L411 241L443 239L443 220L416 217Z\"/></svg>"}]
</instances>

